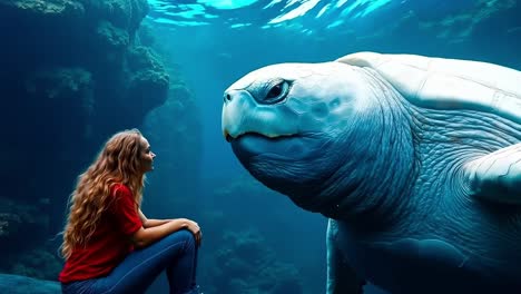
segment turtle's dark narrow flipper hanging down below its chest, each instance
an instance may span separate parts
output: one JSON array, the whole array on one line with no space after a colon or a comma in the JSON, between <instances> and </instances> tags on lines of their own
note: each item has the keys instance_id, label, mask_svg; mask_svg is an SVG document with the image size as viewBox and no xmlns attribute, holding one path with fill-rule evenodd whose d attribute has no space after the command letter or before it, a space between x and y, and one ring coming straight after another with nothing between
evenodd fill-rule
<instances>
[{"instance_id":1,"label":"turtle's dark narrow flipper hanging down below its chest","mask_svg":"<svg viewBox=\"0 0 521 294\"><path fill-rule=\"evenodd\" d=\"M344 258L337 244L338 226L330 218L327 224L327 294L363 294L365 281Z\"/></svg>"}]
</instances>

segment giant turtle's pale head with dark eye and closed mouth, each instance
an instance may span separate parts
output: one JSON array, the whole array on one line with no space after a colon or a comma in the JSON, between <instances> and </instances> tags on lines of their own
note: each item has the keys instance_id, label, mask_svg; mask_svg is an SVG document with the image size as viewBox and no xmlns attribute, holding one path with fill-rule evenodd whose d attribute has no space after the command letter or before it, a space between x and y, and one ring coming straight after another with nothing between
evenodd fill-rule
<instances>
[{"instance_id":1,"label":"giant turtle's pale head with dark eye and closed mouth","mask_svg":"<svg viewBox=\"0 0 521 294\"><path fill-rule=\"evenodd\" d=\"M338 192L364 177L363 168L346 169L374 160L366 138L374 134L374 91L362 79L338 62L252 71L224 92L224 136L256 179L305 209L326 213L338 206Z\"/></svg>"}]
</instances>

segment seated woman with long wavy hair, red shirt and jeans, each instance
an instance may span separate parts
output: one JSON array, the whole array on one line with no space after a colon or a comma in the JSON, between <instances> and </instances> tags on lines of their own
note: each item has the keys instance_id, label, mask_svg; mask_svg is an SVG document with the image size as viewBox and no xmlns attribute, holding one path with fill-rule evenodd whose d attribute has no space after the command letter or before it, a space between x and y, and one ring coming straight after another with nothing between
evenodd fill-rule
<instances>
[{"instance_id":1,"label":"seated woman with long wavy hair, red shirt and jeans","mask_svg":"<svg viewBox=\"0 0 521 294\"><path fill-rule=\"evenodd\" d=\"M125 130L80 175L61 245L62 293L144 293L164 270L170 293L199 293L197 223L148 219L140 209L154 157L139 130Z\"/></svg>"}]
</instances>

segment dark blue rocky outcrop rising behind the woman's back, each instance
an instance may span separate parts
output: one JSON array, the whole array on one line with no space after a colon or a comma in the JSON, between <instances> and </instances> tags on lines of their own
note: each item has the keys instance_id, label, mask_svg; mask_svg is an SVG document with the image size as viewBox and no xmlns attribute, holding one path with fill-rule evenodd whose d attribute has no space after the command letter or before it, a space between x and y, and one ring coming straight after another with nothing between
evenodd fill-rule
<instances>
[{"instance_id":1,"label":"dark blue rocky outcrop rising behind the woman's back","mask_svg":"<svg viewBox=\"0 0 521 294\"><path fill-rule=\"evenodd\" d=\"M136 37L147 12L146 0L0 0L3 272L56 278L57 246L45 244L76 177L111 134L167 99L170 76Z\"/></svg>"}]
</instances>

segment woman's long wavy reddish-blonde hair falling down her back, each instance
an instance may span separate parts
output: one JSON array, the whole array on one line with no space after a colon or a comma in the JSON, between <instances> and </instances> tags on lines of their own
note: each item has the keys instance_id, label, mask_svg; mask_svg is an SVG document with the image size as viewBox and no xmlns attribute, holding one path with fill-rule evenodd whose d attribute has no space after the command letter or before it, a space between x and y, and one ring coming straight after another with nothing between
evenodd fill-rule
<instances>
[{"instance_id":1,"label":"woman's long wavy reddish-blonde hair falling down her back","mask_svg":"<svg viewBox=\"0 0 521 294\"><path fill-rule=\"evenodd\" d=\"M140 206L146 179L140 171L141 138L138 129L115 134L106 141L96 160L78 177L76 189L69 198L69 214L60 246L66 259L73 248L85 246L95 233L101 214L109 205L115 184L126 185Z\"/></svg>"}]
</instances>

